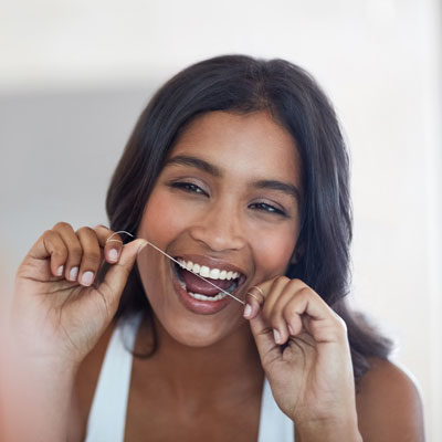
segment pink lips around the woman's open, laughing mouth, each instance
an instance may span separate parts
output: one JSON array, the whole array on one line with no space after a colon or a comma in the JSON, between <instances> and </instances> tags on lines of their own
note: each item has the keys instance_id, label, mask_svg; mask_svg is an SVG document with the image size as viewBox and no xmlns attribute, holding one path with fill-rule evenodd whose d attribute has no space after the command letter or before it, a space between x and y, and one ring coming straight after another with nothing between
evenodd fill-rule
<instances>
[{"instance_id":1,"label":"pink lips around the woman's open, laughing mouth","mask_svg":"<svg viewBox=\"0 0 442 442\"><path fill-rule=\"evenodd\" d=\"M192 261L192 256L193 256L193 261ZM231 264L225 264L224 262L221 262L219 260L212 260L207 256L177 255L177 257L181 257L186 261L197 262L198 264L201 264L201 265L211 266L212 269L220 269L217 265L220 265L220 263L222 263L222 267L220 270L229 270L229 271L240 272L242 275L244 275L244 273L241 271L241 269L235 267ZM186 309L188 309L192 313L196 313L197 315L214 315L215 313L221 312L223 308L225 308L232 301L234 301L231 296L225 296L219 301L201 301L201 299L193 298L179 284L178 275L177 275L177 271L175 269L173 262L170 262L170 267L171 267L175 293L176 293L179 302L183 305L183 307Z\"/></svg>"}]
</instances>

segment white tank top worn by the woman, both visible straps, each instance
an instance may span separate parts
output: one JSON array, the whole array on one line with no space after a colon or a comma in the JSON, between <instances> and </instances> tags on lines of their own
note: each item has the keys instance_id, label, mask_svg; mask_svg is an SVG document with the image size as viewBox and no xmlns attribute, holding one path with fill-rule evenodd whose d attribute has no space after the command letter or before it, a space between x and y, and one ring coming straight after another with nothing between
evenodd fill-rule
<instances>
[{"instance_id":1,"label":"white tank top worn by the woman, both visible straps","mask_svg":"<svg viewBox=\"0 0 442 442\"><path fill-rule=\"evenodd\" d=\"M86 442L124 441L133 362L128 350L134 348L140 320L141 315L126 319L110 337L87 421ZM264 378L257 442L294 440L293 421L277 407Z\"/></svg>"}]
</instances>

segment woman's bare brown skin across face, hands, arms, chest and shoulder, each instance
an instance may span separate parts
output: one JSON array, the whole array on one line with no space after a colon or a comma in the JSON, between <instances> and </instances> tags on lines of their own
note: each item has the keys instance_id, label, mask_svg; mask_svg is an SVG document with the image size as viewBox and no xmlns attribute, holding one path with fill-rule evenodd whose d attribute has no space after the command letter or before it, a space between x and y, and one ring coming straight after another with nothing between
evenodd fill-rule
<instances>
[{"instance_id":1,"label":"woman's bare brown skin across face, hands, arms, chest and shoulder","mask_svg":"<svg viewBox=\"0 0 442 442\"><path fill-rule=\"evenodd\" d=\"M29 350L27 367L34 367L30 379L21 378L34 394L29 410L20 412L39 410L42 417L31 422L32 431L45 441L67 432L69 440L84 438L110 319L137 260L159 349L148 360L134 359L127 441L146 434L256 440L264 373L275 401L296 422L296 441L423 440L411 380L391 362L373 360L355 394L344 322L304 282L281 276L296 246L298 201L254 183L277 179L302 194L302 165L291 135L264 112L215 112L183 131L170 159L179 156L202 159L218 173L182 160L166 166L146 204L139 240L122 246L106 243L113 232L104 227L74 232L59 223L20 266L14 330L21 351ZM181 187L171 185L177 182ZM234 301L213 315L186 309L173 292L169 260L143 238L172 256L209 256L241 269L246 281L238 296L250 305L248 314ZM98 287L83 282L103 259L114 264L105 282ZM80 272L70 281L73 267ZM141 326L136 348L150 339ZM48 414L51 425L44 424ZM219 415L229 425L219 425Z\"/></svg>"}]
</instances>

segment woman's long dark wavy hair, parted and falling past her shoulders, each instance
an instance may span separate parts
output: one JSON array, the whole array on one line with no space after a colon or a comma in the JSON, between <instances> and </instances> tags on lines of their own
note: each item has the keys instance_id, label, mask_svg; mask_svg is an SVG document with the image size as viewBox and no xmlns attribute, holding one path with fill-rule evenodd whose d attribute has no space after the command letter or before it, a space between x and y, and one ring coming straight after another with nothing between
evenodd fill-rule
<instances>
[{"instance_id":1,"label":"woman's long dark wavy hair, parted and falling past her shoulders","mask_svg":"<svg viewBox=\"0 0 442 442\"><path fill-rule=\"evenodd\" d=\"M106 198L110 229L135 233L156 180L180 133L212 110L266 110L296 141L303 164L303 207L296 263L286 275L317 292L346 322L355 379L371 357L387 358L391 343L346 304L352 235L349 157L335 110L315 80L285 60L223 55L179 72L141 113L113 175ZM129 240L128 238L126 240ZM105 270L104 270L105 271ZM115 319L152 311L135 265ZM140 355L138 355L140 356Z\"/></svg>"}]
</instances>

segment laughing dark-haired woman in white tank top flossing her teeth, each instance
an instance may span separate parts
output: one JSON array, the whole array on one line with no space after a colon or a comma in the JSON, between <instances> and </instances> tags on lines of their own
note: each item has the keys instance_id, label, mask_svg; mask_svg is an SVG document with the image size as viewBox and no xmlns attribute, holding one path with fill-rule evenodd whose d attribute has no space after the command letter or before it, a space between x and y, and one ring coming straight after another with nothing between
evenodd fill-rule
<instances>
[{"instance_id":1,"label":"laughing dark-haired woman in white tank top flossing her teeth","mask_svg":"<svg viewBox=\"0 0 442 442\"><path fill-rule=\"evenodd\" d=\"M423 440L413 383L345 304L348 176L299 67L231 55L171 78L114 173L110 228L57 223L18 271L41 439Z\"/></svg>"}]
</instances>

